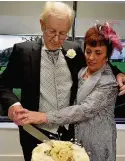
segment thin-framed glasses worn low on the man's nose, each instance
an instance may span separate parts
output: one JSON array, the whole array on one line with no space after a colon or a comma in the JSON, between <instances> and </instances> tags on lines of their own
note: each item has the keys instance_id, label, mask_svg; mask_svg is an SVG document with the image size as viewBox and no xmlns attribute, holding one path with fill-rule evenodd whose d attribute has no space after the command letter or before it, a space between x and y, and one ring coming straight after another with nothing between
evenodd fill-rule
<instances>
[{"instance_id":1,"label":"thin-framed glasses worn low on the man's nose","mask_svg":"<svg viewBox=\"0 0 125 161\"><path fill-rule=\"evenodd\" d=\"M45 32L47 33L47 36L52 39L55 36L58 36L60 40L65 40L67 38L67 33L60 32L59 34L57 34L56 30L53 29L45 29Z\"/></svg>"}]
</instances>

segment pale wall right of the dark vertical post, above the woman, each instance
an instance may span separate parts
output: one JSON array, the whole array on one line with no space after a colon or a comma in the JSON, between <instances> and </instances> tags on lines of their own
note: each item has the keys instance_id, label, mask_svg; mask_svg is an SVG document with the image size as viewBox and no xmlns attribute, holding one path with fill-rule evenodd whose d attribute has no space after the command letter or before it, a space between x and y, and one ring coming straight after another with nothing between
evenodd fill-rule
<instances>
[{"instance_id":1,"label":"pale wall right of the dark vertical post, above the woman","mask_svg":"<svg viewBox=\"0 0 125 161\"><path fill-rule=\"evenodd\" d=\"M78 2L76 20L76 35L83 36L86 30L100 22L118 21L114 29L125 38L125 2Z\"/></svg>"}]
</instances>

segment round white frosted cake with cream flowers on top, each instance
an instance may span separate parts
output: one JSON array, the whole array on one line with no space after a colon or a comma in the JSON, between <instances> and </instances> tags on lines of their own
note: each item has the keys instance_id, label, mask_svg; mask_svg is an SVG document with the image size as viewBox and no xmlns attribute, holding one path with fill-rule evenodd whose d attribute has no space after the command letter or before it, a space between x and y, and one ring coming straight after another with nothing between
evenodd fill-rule
<instances>
[{"instance_id":1,"label":"round white frosted cake with cream flowers on top","mask_svg":"<svg viewBox=\"0 0 125 161\"><path fill-rule=\"evenodd\" d=\"M41 143L32 152L31 161L90 161L85 149L68 141Z\"/></svg>"}]
</instances>

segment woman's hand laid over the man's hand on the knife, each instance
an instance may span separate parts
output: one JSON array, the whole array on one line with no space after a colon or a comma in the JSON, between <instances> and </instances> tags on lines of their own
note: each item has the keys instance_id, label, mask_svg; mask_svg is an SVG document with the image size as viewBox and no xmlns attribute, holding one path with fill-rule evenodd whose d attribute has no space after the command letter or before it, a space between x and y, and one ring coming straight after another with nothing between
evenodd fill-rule
<instances>
[{"instance_id":1,"label":"woman's hand laid over the man's hand on the knife","mask_svg":"<svg viewBox=\"0 0 125 161\"><path fill-rule=\"evenodd\" d=\"M18 117L18 125L47 123L45 113L28 111Z\"/></svg>"}]
</instances>

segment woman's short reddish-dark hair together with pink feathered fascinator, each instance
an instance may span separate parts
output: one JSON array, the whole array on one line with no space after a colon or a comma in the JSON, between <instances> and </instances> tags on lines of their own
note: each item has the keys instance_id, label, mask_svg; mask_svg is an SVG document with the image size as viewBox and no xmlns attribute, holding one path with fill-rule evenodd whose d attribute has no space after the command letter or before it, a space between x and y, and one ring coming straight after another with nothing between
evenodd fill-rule
<instances>
[{"instance_id":1,"label":"woman's short reddish-dark hair together with pink feathered fascinator","mask_svg":"<svg viewBox=\"0 0 125 161\"><path fill-rule=\"evenodd\" d=\"M111 28L108 23L104 25L96 24L91 27L85 34L84 38L84 53L86 45L92 47L96 46L106 46L107 47L107 57L110 58L113 49L122 50L121 42L116 35L116 32Z\"/></svg>"}]
</instances>

